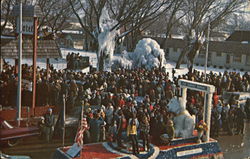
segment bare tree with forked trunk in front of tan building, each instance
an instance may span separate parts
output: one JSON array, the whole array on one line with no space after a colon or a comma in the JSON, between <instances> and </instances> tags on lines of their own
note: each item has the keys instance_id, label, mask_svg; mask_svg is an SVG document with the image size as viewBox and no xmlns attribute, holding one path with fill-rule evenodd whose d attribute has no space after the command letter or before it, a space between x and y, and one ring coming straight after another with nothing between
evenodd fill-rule
<instances>
[{"instance_id":1,"label":"bare tree with forked trunk in front of tan building","mask_svg":"<svg viewBox=\"0 0 250 159\"><path fill-rule=\"evenodd\" d=\"M186 35L186 46L181 52L176 63L176 68L180 68L180 64L187 55L190 64L190 71L193 67L193 61L196 54L199 53L206 32L208 23L211 29L225 23L226 18L242 7L245 0L185 0L187 14L183 17L183 32ZM193 34L193 35L192 35Z\"/></svg>"}]
</instances>

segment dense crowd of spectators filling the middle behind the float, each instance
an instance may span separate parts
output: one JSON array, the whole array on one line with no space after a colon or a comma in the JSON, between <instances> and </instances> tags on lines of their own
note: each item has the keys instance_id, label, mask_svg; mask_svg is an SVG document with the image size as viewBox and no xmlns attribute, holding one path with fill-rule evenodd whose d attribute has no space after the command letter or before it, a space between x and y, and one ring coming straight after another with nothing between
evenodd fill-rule
<instances>
[{"instance_id":1,"label":"dense crowd of spectators filling the middle behind the float","mask_svg":"<svg viewBox=\"0 0 250 159\"><path fill-rule=\"evenodd\" d=\"M32 67L23 65L23 79L31 81L31 73ZM164 67L152 70L119 68L112 72L89 74L51 69L47 73L44 69L37 69L36 105L61 107L65 95L67 113L75 107L83 107L90 127L85 131L85 143L111 140L122 147L123 132L127 132L133 143L133 152L138 153L137 130L141 132L145 150L149 149L151 138L158 143L165 142L161 139L164 134L168 134L169 140L174 138L171 120L174 114L168 112L166 105L179 94L179 79L216 87L211 118L212 136L218 136L222 130L230 135L243 133L244 119L250 118L250 99L244 107L240 107L237 100L225 103L220 98L225 91L249 92L250 75L247 72L242 76L236 72L210 72L205 79L205 75L196 70L176 76L173 69L172 80ZM17 74L13 66L4 65L0 82L0 105L15 106ZM29 105L26 99L31 98L26 96L31 95L30 92L30 89L23 88L23 105ZM93 105L99 106L98 109L93 109ZM204 94L188 90L187 110L196 116L196 124L203 119L203 105Z\"/></svg>"}]
</instances>

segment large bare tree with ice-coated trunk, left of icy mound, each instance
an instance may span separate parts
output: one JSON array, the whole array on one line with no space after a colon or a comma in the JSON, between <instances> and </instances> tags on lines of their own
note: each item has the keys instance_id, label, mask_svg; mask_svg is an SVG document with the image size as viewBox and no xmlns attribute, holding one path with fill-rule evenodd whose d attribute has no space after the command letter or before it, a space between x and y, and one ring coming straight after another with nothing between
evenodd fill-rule
<instances>
[{"instance_id":1,"label":"large bare tree with ice-coated trunk, left of icy mound","mask_svg":"<svg viewBox=\"0 0 250 159\"><path fill-rule=\"evenodd\" d=\"M105 70L105 63L110 62L113 54L114 45L109 45L110 42L115 44L116 40L155 20L169 8L173 0L69 0L69 2L83 30L98 44L96 45L98 69L102 71Z\"/></svg>"}]
</instances>

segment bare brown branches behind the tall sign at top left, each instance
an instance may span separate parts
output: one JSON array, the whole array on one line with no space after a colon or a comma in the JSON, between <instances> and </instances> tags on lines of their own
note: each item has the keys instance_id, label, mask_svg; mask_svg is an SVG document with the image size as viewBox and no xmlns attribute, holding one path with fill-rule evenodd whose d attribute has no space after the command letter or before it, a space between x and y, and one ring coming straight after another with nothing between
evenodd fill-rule
<instances>
[{"instance_id":1,"label":"bare brown branches behind the tall sign at top left","mask_svg":"<svg viewBox=\"0 0 250 159\"><path fill-rule=\"evenodd\" d=\"M23 5L38 5L41 8L42 17L39 18L38 30L42 27L48 28L50 31L48 36L62 30L66 20L73 14L67 0L23 0L22 3ZM16 0L1 1L1 34L7 23L14 23L11 14L15 4Z\"/></svg>"}]
</instances>

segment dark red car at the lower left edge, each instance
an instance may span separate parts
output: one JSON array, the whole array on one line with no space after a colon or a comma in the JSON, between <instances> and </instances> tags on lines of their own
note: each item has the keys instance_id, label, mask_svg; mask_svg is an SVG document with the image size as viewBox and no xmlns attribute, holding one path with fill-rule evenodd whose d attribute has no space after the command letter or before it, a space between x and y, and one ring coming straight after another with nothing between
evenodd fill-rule
<instances>
[{"instance_id":1,"label":"dark red car at the lower left edge","mask_svg":"<svg viewBox=\"0 0 250 159\"><path fill-rule=\"evenodd\" d=\"M14 127L6 120L0 118L0 143L15 146L19 143L20 139L35 135L40 135L38 127Z\"/></svg>"}]
</instances>

